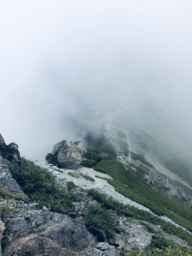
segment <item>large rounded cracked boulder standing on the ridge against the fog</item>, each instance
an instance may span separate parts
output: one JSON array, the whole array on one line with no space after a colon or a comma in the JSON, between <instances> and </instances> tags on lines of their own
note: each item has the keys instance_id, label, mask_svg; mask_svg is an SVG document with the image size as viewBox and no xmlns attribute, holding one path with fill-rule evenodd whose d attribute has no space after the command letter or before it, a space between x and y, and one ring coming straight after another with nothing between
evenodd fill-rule
<instances>
[{"instance_id":1,"label":"large rounded cracked boulder standing on the ridge against the fog","mask_svg":"<svg viewBox=\"0 0 192 256\"><path fill-rule=\"evenodd\" d=\"M84 153L87 153L87 150L81 141L72 143L64 140L53 147L52 153L47 154L46 161L64 169L77 169L85 159Z\"/></svg>"}]
</instances>

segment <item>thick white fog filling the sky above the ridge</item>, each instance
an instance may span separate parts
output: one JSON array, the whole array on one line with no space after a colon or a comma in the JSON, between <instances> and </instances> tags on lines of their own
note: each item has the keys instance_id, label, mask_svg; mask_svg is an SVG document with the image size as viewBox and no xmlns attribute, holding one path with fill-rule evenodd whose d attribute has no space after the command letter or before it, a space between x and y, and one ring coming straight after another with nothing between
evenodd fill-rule
<instances>
[{"instance_id":1,"label":"thick white fog filling the sky above the ridge","mask_svg":"<svg viewBox=\"0 0 192 256\"><path fill-rule=\"evenodd\" d=\"M187 0L2 0L6 143L45 161L55 143L79 139L77 131L97 124L100 114L115 107L139 120L149 104L166 116L162 133L185 135L191 145L191 27Z\"/></svg>"}]
</instances>

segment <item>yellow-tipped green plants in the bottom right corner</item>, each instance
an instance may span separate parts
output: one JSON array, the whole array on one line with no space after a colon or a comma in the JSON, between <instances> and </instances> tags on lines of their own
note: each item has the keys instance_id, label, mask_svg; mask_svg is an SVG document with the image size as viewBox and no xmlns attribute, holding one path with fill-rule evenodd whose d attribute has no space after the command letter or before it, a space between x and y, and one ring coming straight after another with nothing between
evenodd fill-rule
<instances>
[{"instance_id":1,"label":"yellow-tipped green plants in the bottom right corner","mask_svg":"<svg viewBox=\"0 0 192 256\"><path fill-rule=\"evenodd\" d=\"M153 236L149 246L144 250L127 251L125 245L121 248L121 256L191 256L191 250L184 249L174 242L160 236Z\"/></svg>"}]
</instances>

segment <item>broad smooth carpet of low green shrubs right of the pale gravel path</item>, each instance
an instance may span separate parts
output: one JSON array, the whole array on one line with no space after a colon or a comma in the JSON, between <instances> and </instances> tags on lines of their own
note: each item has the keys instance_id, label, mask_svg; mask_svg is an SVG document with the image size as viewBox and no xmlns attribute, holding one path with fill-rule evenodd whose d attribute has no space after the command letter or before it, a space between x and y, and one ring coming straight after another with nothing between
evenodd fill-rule
<instances>
[{"instance_id":1,"label":"broad smooth carpet of low green shrubs right of the pale gravel path","mask_svg":"<svg viewBox=\"0 0 192 256\"><path fill-rule=\"evenodd\" d=\"M109 174L113 180L103 178L112 185L117 192L139 204L149 208L159 216L167 216L177 224L192 232L192 208L176 196L172 198L157 186L158 191L143 180L142 168L135 166L136 171L116 160L100 161L94 170ZM134 175L133 175L134 172ZM174 213L172 213L173 211Z\"/></svg>"}]
</instances>

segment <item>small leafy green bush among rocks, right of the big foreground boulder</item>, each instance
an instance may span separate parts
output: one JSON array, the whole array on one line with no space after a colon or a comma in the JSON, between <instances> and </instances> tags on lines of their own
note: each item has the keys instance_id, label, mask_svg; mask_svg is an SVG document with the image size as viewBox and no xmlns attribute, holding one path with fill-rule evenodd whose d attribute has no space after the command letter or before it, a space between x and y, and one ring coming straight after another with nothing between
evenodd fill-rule
<instances>
[{"instance_id":1,"label":"small leafy green bush among rocks, right of the big foreground boulder","mask_svg":"<svg viewBox=\"0 0 192 256\"><path fill-rule=\"evenodd\" d=\"M86 217L86 225L88 227L101 229L108 239L114 238L112 231L112 229L115 228L113 215L100 204L91 205L89 207L88 215Z\"/></svg>"}]
</instances>

